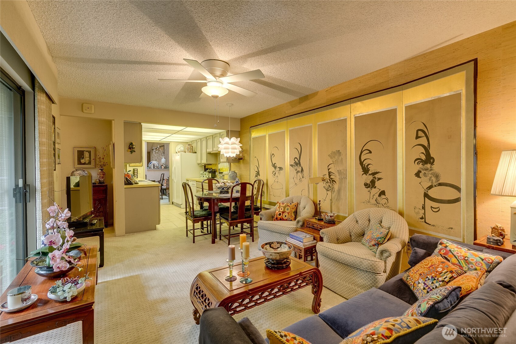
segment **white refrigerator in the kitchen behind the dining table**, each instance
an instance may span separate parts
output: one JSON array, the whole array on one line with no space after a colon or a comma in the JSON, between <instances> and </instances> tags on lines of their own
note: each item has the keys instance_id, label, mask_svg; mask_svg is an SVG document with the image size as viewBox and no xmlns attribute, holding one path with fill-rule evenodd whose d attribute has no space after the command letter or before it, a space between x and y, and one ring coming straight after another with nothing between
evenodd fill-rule
<instances>
[{"instance_id":1,"label":"white refrigerator in the kitchen behind the dining table","mask_svg":"<svg viewBox=\"0 0 516 344\"><path fill-rule=\"evenodd\" d=\"M171 204L185 208L185 195L181 184L186 182L186 178L199 178L200 172L203 170L204 167L197 164L196 153L172 154ZM196 190L192 189L192 194L195 195L195 193Z\"/></svg>"}]
</instances>

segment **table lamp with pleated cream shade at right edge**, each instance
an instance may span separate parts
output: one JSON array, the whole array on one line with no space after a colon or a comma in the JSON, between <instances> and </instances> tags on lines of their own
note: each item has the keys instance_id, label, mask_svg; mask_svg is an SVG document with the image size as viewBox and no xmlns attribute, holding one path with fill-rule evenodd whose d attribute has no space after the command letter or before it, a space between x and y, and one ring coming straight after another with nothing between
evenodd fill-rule
<instances>
[{"instance_id":1,"label":"table lamp with pleated cream shade at right edge","mask_svg":"<svg viewBox=\"0 0 516 344\"><path fill-rule=\"evenodd\" d=\"M516 149L502 151L491 195L516 197ZM510 241L516 245L516 200L511 204Z\"/></svg>"}]
</instances>

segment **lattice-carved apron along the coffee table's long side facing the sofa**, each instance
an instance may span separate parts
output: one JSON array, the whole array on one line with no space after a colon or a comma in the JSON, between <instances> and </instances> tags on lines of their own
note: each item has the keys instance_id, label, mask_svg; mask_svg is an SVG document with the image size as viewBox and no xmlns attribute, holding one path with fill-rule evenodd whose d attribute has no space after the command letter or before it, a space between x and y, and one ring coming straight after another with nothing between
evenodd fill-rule
<instances>
[{"instance_id":1,"label":"lattice-carved apron along the coffee table's long side facing the sofa","mask_svg":"<svg viewBox=\"0 0 516 344\"><path fill-rule=\"evenodd\" d=\"M247 298L231 302L226 309L229 314L234 315L244 310L254 308L265 302L269 302L280 298L283 295L289 294L298 289L311 286L313 284L312 275L300 277L292 282L282 284L278 287L270 288L254 295L249 295Z\"/></svg>"}]
</instances>

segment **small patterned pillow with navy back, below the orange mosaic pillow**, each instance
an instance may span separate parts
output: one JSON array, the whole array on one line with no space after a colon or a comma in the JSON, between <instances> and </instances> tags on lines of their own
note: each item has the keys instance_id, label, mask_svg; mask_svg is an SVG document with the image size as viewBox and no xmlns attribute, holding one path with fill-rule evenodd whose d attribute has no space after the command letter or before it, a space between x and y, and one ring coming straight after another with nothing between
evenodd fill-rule
<instances>
[{"instance_id":1,"label":"small patterned pillow with navy back, below the orange mosaic pillow","mask_svg":"<svg viewBox=\"0 0 516 344\"><path fill-rule=\"evenodd\" d=\"M450 284L462 276L457 277L450 282ZM426 294L423 299L418 300L407 309L403 316L427 317L432 319L441 319L444 317L460 300L460 287L450 286L450 284Z\"/></svg>"}]
</instances>

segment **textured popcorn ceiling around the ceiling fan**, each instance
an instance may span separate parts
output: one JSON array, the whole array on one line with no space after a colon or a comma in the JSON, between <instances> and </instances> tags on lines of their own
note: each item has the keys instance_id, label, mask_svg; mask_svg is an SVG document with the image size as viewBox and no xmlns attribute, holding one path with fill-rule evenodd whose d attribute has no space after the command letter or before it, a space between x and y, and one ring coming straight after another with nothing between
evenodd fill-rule
<instances>
[{"instance_id":1,"label":"textured popcorn ceiling around the ceiling fan","mask_svg":"<svg viewBox=\"0 0 516 344\"><path fill-rule=\"evenodd\" d=\"M29 1L59 94L203 114L204 79L183 58L222 59L244 117L516 20L516 1Z\"/></svg>"}]
</instances>

